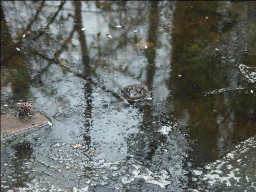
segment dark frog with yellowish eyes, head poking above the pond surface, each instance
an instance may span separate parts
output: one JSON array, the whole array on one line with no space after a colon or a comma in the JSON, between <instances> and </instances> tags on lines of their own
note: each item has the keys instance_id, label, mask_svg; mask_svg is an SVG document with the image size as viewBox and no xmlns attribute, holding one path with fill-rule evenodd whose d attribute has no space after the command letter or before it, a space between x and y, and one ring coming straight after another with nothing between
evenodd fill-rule
<instances>
[{"instance_id":1,"label":"dark frog with yellowish eyes, head poking above the pond surface","mask_svg":"<svg viewBox=\"0 0 256 192\"><path fill-rule=\"evenodd\" d=\"M118 92L128 103L142 103L145 99L152 99L147 88L140 84L126 85Z\"/></svg>"}]
</instances>

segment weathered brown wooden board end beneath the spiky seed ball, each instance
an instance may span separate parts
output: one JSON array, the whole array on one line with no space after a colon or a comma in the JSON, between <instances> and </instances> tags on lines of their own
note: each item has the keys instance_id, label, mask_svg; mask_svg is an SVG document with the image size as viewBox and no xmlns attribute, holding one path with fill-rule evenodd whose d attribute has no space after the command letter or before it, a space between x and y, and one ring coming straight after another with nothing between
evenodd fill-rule
<instances>
[{"instance_id":1,"label":"weathered brown wooden board end beneath the spiky seed ball","mask_svg":"<svg viewBox=\"0 0 256 192\"><path fill-rule=\"evenodd\" d=\"M28 119L1 115L1 136L4 133L16 133L48 125L49 119L40 112L32 111L31 114L32 116Z\"/></svg>"}]
</instances>

